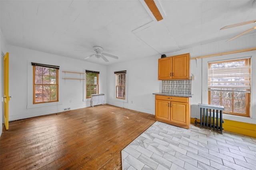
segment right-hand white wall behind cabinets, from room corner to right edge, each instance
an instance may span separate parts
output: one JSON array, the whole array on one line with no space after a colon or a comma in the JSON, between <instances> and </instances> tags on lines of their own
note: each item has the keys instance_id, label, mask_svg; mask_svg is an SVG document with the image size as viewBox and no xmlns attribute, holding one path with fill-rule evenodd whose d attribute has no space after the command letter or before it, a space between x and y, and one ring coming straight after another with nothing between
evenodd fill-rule
<instances>
[{"instance_id":1,"label":"right-hand white wall behind cabinets, from room corner to right edge","mask_svg":"<svg viewBox=\"0 0 256 170\"><path fill-rule=\"evenodd\" d=\"M166 56L180 55L190 53L191 58L200 57L203 55L211 55L240 49L248 49L255 47L256 35L244 35L230 42L216 42L212 44L200 45L189 49L176 51L166 54ZM207 72L208 61L218 61L222 59L233 59L240 57L252 56L252 90L251 90L251 109L250 117L240 117L235 115L224 114L224 119L241 121L246 123L256 124L256 51L237 53L232 55L223 55L210 57L205 59L191 60L190 73L194 74L195 80L192 80L192 98L191 98L191 117L200 117L199 103L208 103L207 92ZM135 61L128 61L120 64L112 64L107 68L108 76L108 103L114 106L124 107L137 111L143 111L150 114L155 114L155 96L153 92L161 92L161 81L158 77L158 58L147 57ZM115 99L115 74L114 71L127 70L126 100Z\"/></svg>"}]
</instances>

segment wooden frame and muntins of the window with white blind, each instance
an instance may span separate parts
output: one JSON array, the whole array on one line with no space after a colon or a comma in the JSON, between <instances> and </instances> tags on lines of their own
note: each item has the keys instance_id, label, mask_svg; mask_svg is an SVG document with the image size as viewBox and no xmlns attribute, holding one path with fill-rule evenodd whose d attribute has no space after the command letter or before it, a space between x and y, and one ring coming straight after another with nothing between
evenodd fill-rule
<instances>
[{"instance_id":1,"label":"wooden frame and muntins of the window with white blind","mask_svg":"<svg viewBox=\"0 0 256 170\"><path fill-rule=\"evenodd\" d=\"M209 68L210 68L210 64L212 64L212 63L214 63L214 64L216 64L216 63L224 63L224 62L232 62L232 61L238 61L238 60L246 60L246 59L250 59L249 60L249 62L250 62L250 70L249 70L249 73L251 74L251 57L243 57L243 58L234 58L234 59L226 59L226 60L221 60L221 61L208 61L208 70L209 70ZM208 84L208 104L211 104L211 91L213 91L214 90L214 87L209 87L209 73L207 73L207 75L208 75L208 80L207 80L207 84ZM250 85L250 89L246 89L246 91L244 91L244 90L216 90L216 91L220 91L220 92L222 92L222 91L230 91L230 92L232 92L232 110L234 110L234 92L244 92L245 93L245 100L243 100L243 101L245 101L245 113L235 113L235 112L230 112L230 111L223 111L223 113L226 113L226 114L228 114L228 115L238 115L238 116L242 116L242 117L250 117L250 100L251 100L251 96L250 96L250 93L251 93L251 88L252 88L252 86L251 86L251 75L250 75L250 82L249 82L249 85ZM224 88L224 87L220 87L220 88ZM226 86L225 88L229 88L228 86ZM234 88L234 87L230 87L230 88ZM238 88L236 88L236 89L239 89L239 87ZM222 95L222 93L221 93L221 95ZM222 103L221 102L222 101L222 97L220 97L220 103Z\"/></svg>"}]
</instances>

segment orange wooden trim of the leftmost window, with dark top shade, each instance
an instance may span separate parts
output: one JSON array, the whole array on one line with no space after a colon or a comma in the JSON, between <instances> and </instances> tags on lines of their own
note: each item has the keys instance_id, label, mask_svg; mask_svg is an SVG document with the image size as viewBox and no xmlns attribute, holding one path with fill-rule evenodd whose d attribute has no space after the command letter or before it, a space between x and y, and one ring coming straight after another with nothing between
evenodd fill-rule
<instances>
[{"instance_id":1,"label":"orange wooden trim of the leftmost window, with dark top shade","mask_svg":"<svg viewBox=\"0 0 256 170\"><path fill-rule=\"evenodd\" d=\"M31 63L33 67L33 104L44 104L44 103L52 103L52 102L59 102L59 67L60 66L53 66L53 65L48 65L48 64L38 64L38 63ZM42 101L42 102L36 102L36 83L35 83L35 78L36 78L36 66L40 66L43 68L52 68L56 69L56 100L50 100L50 101ZM43 84L43 83L42 83ZM50 83L49 83L50 85Z\"/></svg>"}]
</instances>

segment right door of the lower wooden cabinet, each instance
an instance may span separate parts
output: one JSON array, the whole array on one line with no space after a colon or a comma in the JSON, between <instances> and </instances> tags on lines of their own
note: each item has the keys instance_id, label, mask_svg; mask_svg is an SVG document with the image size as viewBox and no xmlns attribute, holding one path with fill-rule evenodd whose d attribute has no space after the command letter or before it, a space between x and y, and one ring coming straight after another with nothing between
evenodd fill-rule
<instances>
[{"instance_id":1,"label":"right door of the lower wooden cabinet","mask_svg":"<svg viewBox=\"0 0 256 170\"><path fill-rule=\"evenodd\" d=\"M188 125L188 103L171 103L171 122Z\"/></svg>"}]
</instances>

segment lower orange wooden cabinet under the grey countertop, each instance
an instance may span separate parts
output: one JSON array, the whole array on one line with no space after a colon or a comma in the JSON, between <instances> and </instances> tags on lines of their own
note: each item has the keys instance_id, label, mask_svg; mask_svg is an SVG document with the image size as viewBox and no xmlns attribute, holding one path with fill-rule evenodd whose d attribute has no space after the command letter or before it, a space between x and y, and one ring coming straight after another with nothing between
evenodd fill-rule
<instances>
[{"instance_id":1,"label":"lower orange wooden cabinet under the grey countertop","mask_svg":"<svg viewBox=\"0 0 256 170\"><path fill-rule=\"evenodd\" d=\"M156 120L189 129L189 98L156 95Z\"/></svg>"}]
</instances>

